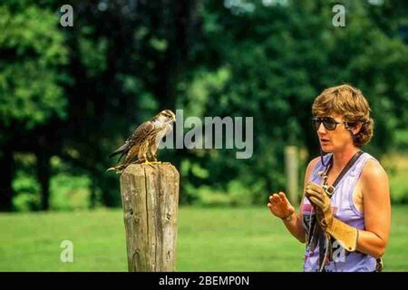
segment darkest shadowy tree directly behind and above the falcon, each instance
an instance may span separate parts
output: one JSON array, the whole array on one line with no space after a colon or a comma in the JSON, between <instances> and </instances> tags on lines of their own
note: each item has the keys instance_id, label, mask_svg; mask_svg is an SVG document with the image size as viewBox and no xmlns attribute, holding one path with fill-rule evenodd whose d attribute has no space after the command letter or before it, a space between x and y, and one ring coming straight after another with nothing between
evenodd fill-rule
<instances>
[{"instance_id":1,"label":"darkest shadowy tree directly behind and above the falcon","mask_svg":"<svg viewBox=\"0 0 408 290\"><path fill-rule=\"evenodd\" d=\"M158 111L176 108L177 85L199 37L196 2L73 4L74 27L64 30L75 53L62 157L89 172L106 206L120 205L118 178L104 173L109 153ZM183 153L173 153L179 166Z\"/></svg>"}]
</instances>

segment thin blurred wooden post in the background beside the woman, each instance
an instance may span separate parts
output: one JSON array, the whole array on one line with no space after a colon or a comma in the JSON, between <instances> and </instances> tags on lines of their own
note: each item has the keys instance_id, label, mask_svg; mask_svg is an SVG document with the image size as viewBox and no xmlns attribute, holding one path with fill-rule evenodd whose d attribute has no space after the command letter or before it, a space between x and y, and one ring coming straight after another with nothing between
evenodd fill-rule
<instances>
[{"instance_id":1,"label":"thin blurred wooden post in the background beside the woman","mask_svg":"<svg viewBox=\"0 0 408 290\"><path fill-rule=\"evenodd\" d=\"M285 148L285 169L288 190L288 199L291 204L298 203L298 160L297 148L295 146L286 146Z\"/></svg>"}]
</instances>

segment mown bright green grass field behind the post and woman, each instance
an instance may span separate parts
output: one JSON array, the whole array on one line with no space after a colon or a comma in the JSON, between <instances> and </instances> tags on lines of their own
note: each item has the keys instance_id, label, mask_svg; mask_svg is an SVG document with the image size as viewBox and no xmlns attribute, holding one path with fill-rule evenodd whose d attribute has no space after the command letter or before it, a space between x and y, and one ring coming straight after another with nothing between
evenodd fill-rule
<instances>
[{"instance_id":1,"label":"mown bright green grass field behind the post and woman","mask_svg":"<svg viewBox=\"0 0 408 290\"><path fill-rule=\"evenodd\" d=\"M386 271L407 271L408 206L393 206ZM304 245L264 208L179 211L177 271L302 271ZM73 263L60 244L73 242ZM122 210L0 214L0 271L127 271Z\"/></svg>"}]
</instances>

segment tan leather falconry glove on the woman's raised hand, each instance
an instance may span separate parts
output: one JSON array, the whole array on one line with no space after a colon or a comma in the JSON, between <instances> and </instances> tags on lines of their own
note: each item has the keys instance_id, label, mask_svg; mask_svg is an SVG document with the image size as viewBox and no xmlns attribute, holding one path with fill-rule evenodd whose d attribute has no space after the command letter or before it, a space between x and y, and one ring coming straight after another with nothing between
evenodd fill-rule
<instances>
[{"instance_id":1,"label":"tan leather falconry glove on the woman's raised hand","mask_svg":"<svg viewBox=\"0 0 408 290\"><path fill-rule=\"evenodd\" d=\"M358 230L335 218L330 198L324 188L314 182L306 185L306 197L312 204L322 229L334 237L349 252L357 248Z\"/></svg>"}]
</instances>

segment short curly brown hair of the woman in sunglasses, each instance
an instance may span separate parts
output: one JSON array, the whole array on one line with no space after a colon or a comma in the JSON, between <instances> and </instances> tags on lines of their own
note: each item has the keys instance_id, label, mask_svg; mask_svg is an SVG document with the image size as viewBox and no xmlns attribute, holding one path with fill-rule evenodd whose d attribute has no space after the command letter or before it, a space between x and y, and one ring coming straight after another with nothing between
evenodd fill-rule
<instances>
[{"instance_id":1,"label":"short curly brown hair of the woman in sunglasses","mask_svg":"<svg viewBox=\"0 0 408 290\"><path fill-rule=\"evenodd\" d=\"M361 91L348 84L325 89L312 106L314 116L338 115L350 126L361 123L360 131L353 136L354 145L359 148L373 137L374 120L370 117L370 111Z\"/></svg>"}]
</instances>

